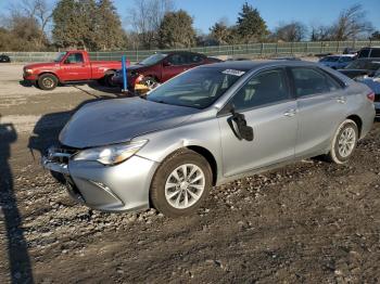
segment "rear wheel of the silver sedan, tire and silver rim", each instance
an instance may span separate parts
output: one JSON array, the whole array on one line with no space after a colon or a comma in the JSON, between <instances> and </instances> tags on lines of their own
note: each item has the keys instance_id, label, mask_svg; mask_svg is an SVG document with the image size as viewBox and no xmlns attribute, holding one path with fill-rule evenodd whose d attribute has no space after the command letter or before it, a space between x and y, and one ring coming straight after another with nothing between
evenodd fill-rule
<instances>
[{"instance_id":1,"label":"rear wheel of the silver sedan, tire and silver rim","mask_svg":"<svg viewBox=\"0 0 380 284\"><path fill-rule=\"evenodd\" d=\"M328 160L339 165L347 163L357 145L357 125L351 119L344 120L333 135L330 152L327 154Z\"/></svg>"}]
</instances>

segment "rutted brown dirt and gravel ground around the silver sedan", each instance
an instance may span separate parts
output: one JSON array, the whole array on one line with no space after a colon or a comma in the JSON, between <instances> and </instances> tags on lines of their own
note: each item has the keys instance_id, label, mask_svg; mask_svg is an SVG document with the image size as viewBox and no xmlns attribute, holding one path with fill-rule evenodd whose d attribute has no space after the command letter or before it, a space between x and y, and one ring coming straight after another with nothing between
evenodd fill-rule
<instances>
[{"instance_id":1,"label":"rutted brown dirt and gravel ground around the silver sedan","mask_svg":"<svg viewBox=\"0 0 380 284\"><path fill-rule=\"evenodd\" d=\"M101 214L38 160L72 109L118 94L42 92L20 75L0 66L0 283L11 271L14 283L380 282L379 122L352 163L305 160L215 188L189 218Z\"/></svg>"}]
</instances>

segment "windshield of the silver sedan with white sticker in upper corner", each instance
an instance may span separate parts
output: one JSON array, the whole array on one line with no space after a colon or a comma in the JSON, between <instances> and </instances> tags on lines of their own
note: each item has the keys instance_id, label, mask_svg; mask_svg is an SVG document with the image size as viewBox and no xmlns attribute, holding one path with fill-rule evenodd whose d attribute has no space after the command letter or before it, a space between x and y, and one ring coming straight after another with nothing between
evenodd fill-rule
<instances>
[{"instance_id":1,"label":"windshield of the silver sedan with white sticker in upper corner","mask_svg":"<svg viewBox=\"0 0 380 284\"><path fill-rule=\"evenodd\" d=\"M244 75L242 70L226 68L195 68L160 86L151 91L147 100L205 108Z\"/></svg>"}]
</instances>

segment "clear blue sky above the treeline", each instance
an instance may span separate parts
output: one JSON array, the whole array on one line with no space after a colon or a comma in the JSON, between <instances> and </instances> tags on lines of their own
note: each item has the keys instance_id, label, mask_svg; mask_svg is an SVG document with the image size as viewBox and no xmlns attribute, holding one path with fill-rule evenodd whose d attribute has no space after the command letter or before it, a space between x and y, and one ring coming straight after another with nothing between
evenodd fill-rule
<instances>
[{"instance_id":1,"label":"clear blue sky above the treeline","mask_svg":"<svg viewBox=\"0 0 380 284\"><path fill-rule=\"evenodd\" d=\"M10 3L16 4L21 0L0 0L0 12L7 11ZM54 0L48 0L54 2ZM128 9L135 0L114 0L123 23L127 26ZM235 24L238 13L245 0L174 0L176 9L183 9L194 18L194 27L203 33L220 18L227 18ZM340 11L360 3L367 11L367 18L376 29L380 29L380 0L248 0L257 8L266 21L269 29L275 29L280 23L300 21L309 26L329 25Z\"/></svg>"}]
</instances>

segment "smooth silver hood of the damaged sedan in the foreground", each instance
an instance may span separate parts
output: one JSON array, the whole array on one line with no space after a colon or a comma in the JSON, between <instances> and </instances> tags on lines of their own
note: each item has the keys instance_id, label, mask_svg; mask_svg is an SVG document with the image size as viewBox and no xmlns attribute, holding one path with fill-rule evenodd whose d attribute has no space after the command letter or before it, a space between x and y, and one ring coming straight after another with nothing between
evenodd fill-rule
<instances>
[{"instance_id":1,"label":"smooth silver hood of the damaged sedan in the foreground","mask_svg":"<svg viewBox=\"0 0 380 284\"><path fill-rule=\"evenodd\" d=\"M148 132L178 126L195 112L195 108L140 98L89 103L62 129L60 142L76 149L127 142Z\"/></svg>"}]
</instances>

